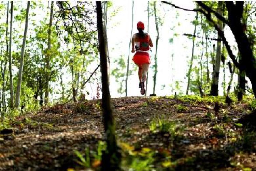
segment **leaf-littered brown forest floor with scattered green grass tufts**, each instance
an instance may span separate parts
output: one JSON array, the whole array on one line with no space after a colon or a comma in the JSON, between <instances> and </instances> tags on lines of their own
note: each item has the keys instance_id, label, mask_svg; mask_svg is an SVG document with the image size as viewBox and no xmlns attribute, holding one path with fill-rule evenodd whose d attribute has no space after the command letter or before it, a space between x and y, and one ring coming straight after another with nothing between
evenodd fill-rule
<instances>
[{"instance_id":1,"label":"leaf-littered brown forest floor with scattered green grass tufts","mask_svg":"<svg viewBox=\"0 0 256 171\"><path fill-rule=\"evenodd\" d=\"M16 117L13 133L0 135L0 170L98 170L104 150L100 103L56 104ZM217 112L210 97L112 103L124 170L256 170L255 129L236 123L250 112L246 103L220 101Z\"/></svg>"}]
</instances>

